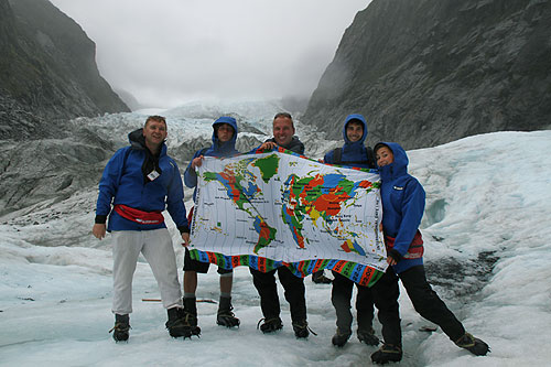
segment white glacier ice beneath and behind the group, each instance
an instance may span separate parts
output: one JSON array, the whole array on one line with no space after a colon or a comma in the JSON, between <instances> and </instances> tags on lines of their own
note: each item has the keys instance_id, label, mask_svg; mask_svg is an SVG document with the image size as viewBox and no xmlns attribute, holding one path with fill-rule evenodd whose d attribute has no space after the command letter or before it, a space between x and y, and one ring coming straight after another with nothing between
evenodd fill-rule
<instances>
[{"instance_id":1,"label":"white glacier ice beneath and behind the group","mask_svg":"<svg viewBox=\"0 0 551 367\"><path fill-rule=\"evenodd\" d=\"M116 145L140 127L144 114L169 121L169 153L208 142L210 125L235 114L247 122L242 147L270 134L280 106L188 104L172 110L79 118L74 125L109 136ZM344 117L343 117L344 119ZM244 123L245 125L245 123ZM240 125L241 126L241 125ZM306 155L321 158L338 142L298 121ZM401 366L549 366L551 360L551 131L496 132L409 151L409 171L426 191L421 230L429 281L466 330L491 347L486 357L460 349L412 309L402 289ZM370 141L374 145L376 142ZM181 171L185 159L180 160ZM99 180L99 177L98 177ZM186 207L192 206L186 190ZM294 337L280 285L283 330L263 335L259 298L245 267L235 270L237 330L216 325L217 304L198 303L201 338L173 339L149 265L141 258L133 282L130 339L116 344L112 327L110 235L91 236L97 187L0 217L0 365L2 366L358 366L375 347L354 334L335 348L331 285L306 278L309 323L317 336ZM180 278L183 248L174 224ZM328 274L328 272L327 272ZM197 298L218 300L218 274L198 277ZM374 324L380 336L380 324ZM355 328L355 327L354 327Z\"/></svg>"}]
</instances>

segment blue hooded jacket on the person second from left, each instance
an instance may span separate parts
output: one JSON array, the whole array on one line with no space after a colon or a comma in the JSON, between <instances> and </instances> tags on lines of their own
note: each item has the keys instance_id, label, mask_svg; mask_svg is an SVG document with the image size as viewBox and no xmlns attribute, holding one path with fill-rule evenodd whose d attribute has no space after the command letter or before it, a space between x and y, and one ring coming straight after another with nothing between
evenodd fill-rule
<instances>
[{"instance_id":1,"label":"blue hooded jacket on the person second from left","mask_svg":"<svg viewBox=\"0 0 551 367\"><path fill-rule=\"evenodd\" d=\"M234 136L226 142L220 142L218 140L218 137L216 136L216 125L219 123L228 123L234 128ZM190 161L190 164L187 164L187 168L185 169L184 182L187 187L197 186L197 174L195 173L195 170L192 169L192 161L197 156L199 155L231 156L235 154L239 154L239 152L236 150L237 133L238 133L237 121L233 117L223 116L213 122L213 144L207 150L199 149L198 151L196 151L192 160ZM204 153L202 153L203 151ZM196 190L193 192L194 201L195 201L195 193Z\"/></svg>"}]
</instances>

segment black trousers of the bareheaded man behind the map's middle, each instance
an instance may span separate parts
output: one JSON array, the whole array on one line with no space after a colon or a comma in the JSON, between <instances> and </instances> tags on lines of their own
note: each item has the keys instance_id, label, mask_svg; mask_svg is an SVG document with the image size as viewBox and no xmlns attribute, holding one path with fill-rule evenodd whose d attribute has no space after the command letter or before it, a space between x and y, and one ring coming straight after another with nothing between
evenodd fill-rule
<instances>
[{"instance_id":1,"label":"black trousers of the bareheaded man behind the map's middle","mask_svg":"<svg viewBox=\"0 0 551 367\"><path fill-rule=\"evenodd\" d=\"M285 300L291 307L291 320L293 323L306 320L304 279L293 276L291 270L285 267L269 272L261 272L251 268L249 270L252 274L255 288L260 295L260 307L266 319L279 317L281 312L278 287L276 284L276 271L278 271L279 281L285 290Z\"/></svg>"}]
</instances>

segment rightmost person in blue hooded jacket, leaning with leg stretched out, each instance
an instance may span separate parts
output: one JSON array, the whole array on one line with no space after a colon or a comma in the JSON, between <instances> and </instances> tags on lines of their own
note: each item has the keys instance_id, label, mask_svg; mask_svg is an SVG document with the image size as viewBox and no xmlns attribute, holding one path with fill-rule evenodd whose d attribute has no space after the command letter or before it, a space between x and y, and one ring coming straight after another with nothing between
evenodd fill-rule
<instances>
[{"instance_id":1,"label":"rightmost person in blue hooded jacket, leaning with leg stretched out","mask_svg":"<svg viewBox=\"0 0 551 367\"><path fill-rule=\"evenodd\" d=\"M398 279L421 316L439 325L457 346L477 356L486 355L488 345L465 332L426 281L419 231L425 193L419 181L408 174L406 151L397 143L380 142L375 145L375 153L381 177L382 230L390 267L372 287L385 344L371 355L371 360L386 364L402 358Z\"/></svg>"}]
</instances>

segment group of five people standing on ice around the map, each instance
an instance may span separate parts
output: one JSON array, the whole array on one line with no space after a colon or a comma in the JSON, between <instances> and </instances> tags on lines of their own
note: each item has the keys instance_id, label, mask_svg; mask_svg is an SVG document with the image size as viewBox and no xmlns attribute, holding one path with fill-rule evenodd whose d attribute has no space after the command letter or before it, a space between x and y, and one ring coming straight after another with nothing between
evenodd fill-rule
<instances>
[{"instance_id":1,"label":"group of five people standing on ice around the map","mask_svg":"<svg viewBox=\"0 0 551 367\"><path fill-rule=\"evenodd\" d=\"M303 154L304 144L294 136L291 115L277 114L273 119L273 138L259 148L282 147ZM372 320L375 307L382 325L382 346L371 355L376 364L398 361L402 358L402 341L399 315L399 285L402 281L417 312L439 325L457 346L474 355L486 355L488 345L465 331L462 323L447 309L428 283L423 267L423 240L419 225L424 212L425 193L422 185L408 174L406 151L393 142L380 142L374 149L366 147L367 123L361 115L349 115L344 122L342 148L325 154L323 162L353 168L377 169L381 177L383 207L382 230L387 247L387 271L371 288L356 284L357 337L368 345L378 345ZM230 156L237 154L237 122L231 117L220 117L213 123L213 144L198 150L184 173L188 187L196 187L196 169L204 156ZM139 253L150 263L159 284L161 299L168 310L165 326L173 337L199 335L195 291L197 272L206 273L208 262L199 262L190 256L190 227L184 206L183 184L180 170L166 154L166 121L161 116L150 116L143 128L129 134L130 145L120 149L109 160L99 183L93 234L98 239L112 231L114 252L114 333L116 342L129 338L132 312L131 284ZM195 198L195 192L194 192ZM171 236L162 212L168 209L181 233L184 256L183 298L177 278L175 255ZM106 226L107 218L108 225ZM255 288L260 295L263 319L258 327L262 333L273 333L283 327L276 272L290 304L291 321L298 338L306 338L312 332L306 321L304 279L294 276L287 267L269 272L250 269ZM218 268L220 296L217 324L239 326L233 312L233 270ZM354 282L333 272L331 300L336 311L336 333L333 345L344 346L352 336L353 314L350 301ZM314 274L314 281L331 282L323 271Z\"/></svg>"}]
</instances>

